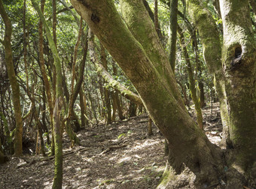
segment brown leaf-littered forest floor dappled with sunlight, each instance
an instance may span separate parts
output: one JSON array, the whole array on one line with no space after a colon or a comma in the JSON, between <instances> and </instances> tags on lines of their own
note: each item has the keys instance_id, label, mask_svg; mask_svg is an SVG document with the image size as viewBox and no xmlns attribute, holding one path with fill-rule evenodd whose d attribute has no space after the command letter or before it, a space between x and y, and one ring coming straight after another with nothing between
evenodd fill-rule
<instances>
[{"instance_id":1,"label":"brown leaf-littered forest floor dappled with sunlight","mask_svg":"<svg viewBox=\"0 0 256 189\"><path fill-rule=\"evenodd\" d=\"M193 113L191 113L193 114ZM221 140L218 104L203 109L209 139ZM62 188L156 188L166 166L164 139L156 127L148 136L148 116L139 115L78 132L83 146L71 148L63 138ZM24 155L0 165L0 188L51 188L54 160Z\"/></svg>"}]
</instances>

